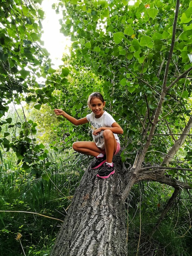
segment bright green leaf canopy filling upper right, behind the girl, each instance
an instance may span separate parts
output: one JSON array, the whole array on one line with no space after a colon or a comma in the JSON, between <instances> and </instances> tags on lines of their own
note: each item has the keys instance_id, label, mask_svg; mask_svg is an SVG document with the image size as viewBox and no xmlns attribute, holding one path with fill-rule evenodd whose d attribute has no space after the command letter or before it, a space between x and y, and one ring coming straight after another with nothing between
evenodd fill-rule
<instances>
[{"instance_id":1,"label":"bright green leaf canopy filling upper right, behind the girl","mask_svg":"<svg viewBox=\"0 0 192 256\"><path fill-rule=\"evenodd\" d=\"M60 21L61 31L73 41L72 63L78 68L87 67L103 78L107 106L111 103L114 117L123 124L124 134L131 141L127 150L135 155L145 143L161 95L175 2L152 1L145 5L137 1L133 6L126 0L110 4L107 1L62 1L60 4L63 2L66 10ZM189 1L185 1L179 9L167 86L191 67L188 58L191 25L187 18L190 8ZM87 84L84 87L87 88ZM190 77L185 76L170 88L146 162L158 164L173 144L171 136L161 135L170 133L168 128L172 133L182 133L190 115L190 94ZM133 155L129 159L134 159Z\"/></svg>"}]
</instances>

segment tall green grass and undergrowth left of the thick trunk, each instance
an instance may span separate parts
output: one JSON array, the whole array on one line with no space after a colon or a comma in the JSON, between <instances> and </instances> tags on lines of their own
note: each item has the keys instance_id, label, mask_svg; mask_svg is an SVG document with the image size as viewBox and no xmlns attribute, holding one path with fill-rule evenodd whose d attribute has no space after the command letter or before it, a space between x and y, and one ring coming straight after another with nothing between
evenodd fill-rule
<instances>
[{"instance_id":1,"label":"tall green grass and undergrowth left of the thick trunk","mask_svg":"<svg viewBox=\"0 0 192 256\"><path fill-rule=\"evenodd\" d=\"M2 256L45 256L54 245L89 158L52 153L48 160L52 165L44 179L24 171L11 156L0 166Z\"/></svg>"}]
</instances>

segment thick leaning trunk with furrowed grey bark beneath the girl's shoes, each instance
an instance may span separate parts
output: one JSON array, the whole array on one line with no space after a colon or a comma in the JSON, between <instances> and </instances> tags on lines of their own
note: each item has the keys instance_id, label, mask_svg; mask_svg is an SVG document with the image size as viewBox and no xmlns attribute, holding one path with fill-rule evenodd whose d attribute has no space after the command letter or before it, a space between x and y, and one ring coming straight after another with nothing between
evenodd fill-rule
<instances>
[{"instance_id":1,"label":"thick leaning trunk with furrowed grey bark beneath the girl's shoes","mask_svg":"<svg viewBox=\"0 0 192 256\"><path fill-rule=\"evenodd\" d=\"M125 169L114 157L115 173L108 179L85 171L60 228L51 256L126 256Z\"/></svg>"}]
</instances>

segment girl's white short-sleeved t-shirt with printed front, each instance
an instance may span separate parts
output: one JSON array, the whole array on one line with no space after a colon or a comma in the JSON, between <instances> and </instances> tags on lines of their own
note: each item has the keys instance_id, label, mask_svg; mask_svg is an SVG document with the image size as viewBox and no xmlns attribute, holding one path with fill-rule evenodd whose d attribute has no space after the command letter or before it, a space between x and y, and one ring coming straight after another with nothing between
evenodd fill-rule
<instances>
[{"instance_id":1,"label":"girl's white short-sleeved t-shirt with printed front","mask_svg":"<svg viewBox=\"0 0 192 256\"><path fill-rule=\"evenodd\" d=\"M93 132L94 130L100 127L112 127L112 124L116 122L115 119L106 111L104 111L103 115L99 118L95 117L94 112L92 112L91 114L88 114L86 118L87 118L87 121L91 123L92 136L95 144L98 146L98 148L105 149L103 130L98 135L93 135ZM120 143L118 135L116 133L114 133L114 137L116 141Z\"/></svg>"}]
</instances>

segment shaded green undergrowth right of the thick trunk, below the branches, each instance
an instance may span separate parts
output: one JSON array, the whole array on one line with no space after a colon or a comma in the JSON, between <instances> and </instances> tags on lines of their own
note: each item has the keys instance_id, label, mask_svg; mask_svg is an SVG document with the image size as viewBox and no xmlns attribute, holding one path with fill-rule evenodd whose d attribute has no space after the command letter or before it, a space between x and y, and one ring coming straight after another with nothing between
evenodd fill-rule
<instances>
[{"instance_id":1,"label":"shaded green undergrowth right of the thick trunk, below the branches","mask_svg":"<svg viewBox=\"0 0 192 256\"><path fill-rule=\"evenodd\" d=\"M192 198L188 191L182 191L156 229L173 192L172 187L155 182L134 185L126 202L129 256L192 256Z\"/></svg>"}]
</instances>

